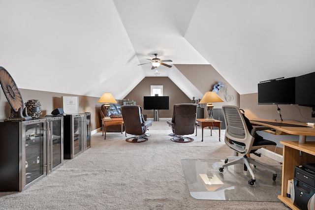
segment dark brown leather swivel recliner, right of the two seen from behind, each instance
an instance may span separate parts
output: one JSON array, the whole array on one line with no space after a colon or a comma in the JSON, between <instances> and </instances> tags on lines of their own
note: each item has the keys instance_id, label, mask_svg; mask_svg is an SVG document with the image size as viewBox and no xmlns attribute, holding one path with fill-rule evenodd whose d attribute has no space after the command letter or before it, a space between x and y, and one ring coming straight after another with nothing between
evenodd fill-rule
<instances>
[{"instance_id":1,"label":"dark brown leather swivel recliner, right of the two seen from behind","mask_svg":"<svg viewBox=\"0 0 315 210\"><path fill-rule=\"evenodd\" d=\"M179 143L192 142L192 138L184 135L194 133L196 117L197 104L174 104L172 121L167 121L167 124L176 135L171 140Z\"/></svg>"}]
</instances>

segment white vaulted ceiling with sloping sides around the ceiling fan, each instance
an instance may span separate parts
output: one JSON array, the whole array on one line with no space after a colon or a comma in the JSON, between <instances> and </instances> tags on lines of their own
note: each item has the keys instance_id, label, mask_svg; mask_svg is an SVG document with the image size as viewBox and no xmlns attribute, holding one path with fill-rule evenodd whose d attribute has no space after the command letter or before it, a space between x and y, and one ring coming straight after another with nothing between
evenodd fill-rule
<instances>
[{"instance_id":1,"label":"white vaulted ceiling with sloping sides around the ceiling fan","mask_svg":"<svg viewBox=\"0 0 315 210\"><path fill-rule=\"evenodd\" d=\"M205 64L247 94L259 81L315 71L314 0L0 0L0 8L0 66L22 89L122 99L144 77L181 84L176 64ZM156 75L138 65L154 53L172 67Z\"/></svg>"}]
</instances>

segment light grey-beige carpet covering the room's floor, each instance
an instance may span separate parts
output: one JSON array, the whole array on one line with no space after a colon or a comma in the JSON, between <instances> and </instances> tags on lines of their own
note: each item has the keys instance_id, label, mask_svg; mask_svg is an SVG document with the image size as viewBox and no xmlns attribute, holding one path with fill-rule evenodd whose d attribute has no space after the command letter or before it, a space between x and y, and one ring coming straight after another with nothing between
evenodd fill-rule
<instances>
[{"instance_id":1,"label":"light grey-beige carpet covering the room's floor","mask_svg":"<svg viewBox=\"0 0 315 210\"><path fill-rule=\"evenodd\" d=\"M1 210L286 210L281 202L197 200L189 195L182 159L224 159L233 152L201 129L191 143L170 140L165 121L153 122L144 143L101 132L92 147L23 192L0 192ZM224 132L221 132L221 138ZM130 135L127 135L127 137ZM277 163L270 158L261 161ZM280 167L280 166L279 166ZM245 183L247 184L247 183ZM266 192L267 193L267 192Z\"/></svg>"}]
</instances>

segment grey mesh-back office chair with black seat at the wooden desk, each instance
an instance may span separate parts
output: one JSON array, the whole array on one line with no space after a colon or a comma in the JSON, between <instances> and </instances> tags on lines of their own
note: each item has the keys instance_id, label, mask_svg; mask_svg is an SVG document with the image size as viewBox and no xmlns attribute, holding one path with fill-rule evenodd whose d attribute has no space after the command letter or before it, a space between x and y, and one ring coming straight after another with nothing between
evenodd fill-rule
<instances>
[{"instance_id":1,"label":"grey mesh-back office chair with black seat at the wooden desk","mask_svg":"<svg viewBox=\"0 0 315 210\"><path fill-rule=\"evenodd\" d=\"M225 159L225 164L223 164L219 171L223 172L224 167L243 163L244 170L248 170L251 175L252 179L248 181L248 183L252 186L254 185L256 179L255 175L252 171L250 164L254 167L258 166L265 170L268 170L273 173L273 180L275 181L277 178L276 171L256 162L251 157L248 157L247 154L253 153L257 156L260 154L256 153L256 150L260 148L276 146L275 142L265 140L258 134L256 131L258 130L266 130L269 127L267 126L254 126L252 127L250 120L248 120L244 114L241 113L240 109L237 106L222 106L224 120L225 120L225 144L231 148L232 150L242 154L243 156L234 156L234 157L227 157ZM246 122L247 121L247 122ZM251 131L250 131L251 129ZM228 162L228 158L235 159L231 162Z\"/></svg>"}]
</instances>

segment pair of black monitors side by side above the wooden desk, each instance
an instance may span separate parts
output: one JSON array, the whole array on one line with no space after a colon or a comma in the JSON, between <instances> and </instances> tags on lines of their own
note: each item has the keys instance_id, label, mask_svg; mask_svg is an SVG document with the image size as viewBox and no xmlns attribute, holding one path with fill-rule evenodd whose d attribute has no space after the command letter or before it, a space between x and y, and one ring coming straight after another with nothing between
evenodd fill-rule
<instances>
[{"instance_id":1,"label":"pair of black monitors side by side above the wooden desk","mask_svg":"<svg viewBox=\"0 0 315 210\"><path fill-rule=\"evenodd\" d=\"M291 78L278 78L258 84L258 104L298 104L313 109L315 117L315 97L313 96L315 72Z\"/></svg>"}]
</instances>

